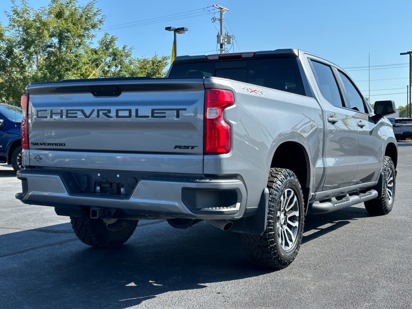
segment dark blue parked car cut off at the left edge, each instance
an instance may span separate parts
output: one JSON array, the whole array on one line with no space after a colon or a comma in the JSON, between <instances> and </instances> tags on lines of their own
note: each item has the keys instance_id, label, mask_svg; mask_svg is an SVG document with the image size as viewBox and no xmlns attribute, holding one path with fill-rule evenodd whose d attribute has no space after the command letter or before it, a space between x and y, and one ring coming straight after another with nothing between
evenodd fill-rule
<instances>
[{"instance_id":1,"label":"dark blue parked car cut off at the left edge","mask_svg":"<svg viewBox=\"0 0 412 309\"><path fill-rule=\"evenodd\" d=\"M20 141L22 116L21 108L0 104L0 163L11 164L14 171L24 168Z\"/></svg>"}]
</instances>

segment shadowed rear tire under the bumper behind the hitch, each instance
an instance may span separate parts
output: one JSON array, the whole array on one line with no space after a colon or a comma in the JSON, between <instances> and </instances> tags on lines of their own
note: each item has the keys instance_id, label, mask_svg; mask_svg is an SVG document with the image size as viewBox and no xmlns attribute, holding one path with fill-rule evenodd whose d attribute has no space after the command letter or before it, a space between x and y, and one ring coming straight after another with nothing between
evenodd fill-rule
<instances>
[{"instance_id":1,"label":"shadowed rear tire under the bumper behind the hitch","mask_svg":"<svg viewBox=\"0 0 412 309\"><path fill-rule=\"evenodd\" d=\"M97 248L113 248L125 243L136 229L138 220L117 219L111 224L86 216L70 217L73 231L85 244ZM108 221L106 221L108 222Z\"/></svg>"}]
</instances>

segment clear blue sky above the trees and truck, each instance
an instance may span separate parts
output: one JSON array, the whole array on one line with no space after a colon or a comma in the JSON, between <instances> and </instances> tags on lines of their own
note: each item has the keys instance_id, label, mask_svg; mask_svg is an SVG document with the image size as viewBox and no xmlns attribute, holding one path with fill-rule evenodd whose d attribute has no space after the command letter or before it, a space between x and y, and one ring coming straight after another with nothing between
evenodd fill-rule
<instances>
[{"instance_id":1,"label":"clear blue sky above the trees and truck","mask_svg":"<svg viewBox=\"0 0 412 309\"><path fill-rule=\"evenodd\" d=\"M78 0L78 4L86 2ZM49 1L28 0L28 4L37 9ZM171 54L173 34L164 30L166 26L189 29L178 35L178 55L214 53L219 28L218 22L211 21L219 17L218 10L211 11L214 4L229 9L224 25L235 37L231 51L304 49L346 68L365 96L370 89L371 102L406 104L409 59L399 53L412 50L410 0L98 0L96 6L106 16L105 27L120 25L107 28L119 45L133 47L136 57L152 57ZM10 6L8 0L1 0L3 25L7 25L4 11ZM96 40L103 33L97 32ZM399 65L383 66L393 64Z\"/></svg>"}]
</instances>

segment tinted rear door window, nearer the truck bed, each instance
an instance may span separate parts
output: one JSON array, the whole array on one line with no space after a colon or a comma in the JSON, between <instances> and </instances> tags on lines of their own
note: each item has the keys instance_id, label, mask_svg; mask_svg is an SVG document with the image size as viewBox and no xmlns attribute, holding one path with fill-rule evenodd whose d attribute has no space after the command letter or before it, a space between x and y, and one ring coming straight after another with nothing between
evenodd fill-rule
<instances>
[{"instance_id":1,"label":"tinted rear door window, nearer the truck bed","mask_svg":"<svg viewBox=\"0 0 412 309\"><path fill-rule=\"evenodd\" d=\"M335 75L333 75L330 66L323 63L311 61L315 75L318 80L319 89L321 89L322 96L332 105L342 107L342 96L337 87Z\"/></svg>"}]
</instances>

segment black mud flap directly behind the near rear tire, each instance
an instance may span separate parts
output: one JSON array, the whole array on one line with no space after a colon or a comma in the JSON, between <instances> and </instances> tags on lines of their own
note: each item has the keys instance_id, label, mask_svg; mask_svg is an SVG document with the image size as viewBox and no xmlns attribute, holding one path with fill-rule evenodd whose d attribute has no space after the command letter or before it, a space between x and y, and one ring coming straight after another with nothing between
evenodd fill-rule
<instances>
[{"instance_id":1,"label":"black mud flap directly behind the near rear tire","mask_svg":"<svg viewBox=\"0 0 412 309\"><path fill-rule=\"evenodd\" d=\"M233 220L233 225L230 228L231 232L262 235L266 230L267 223L267 208L269 204L269 190L265 188L260 197L258 210L254 215Z\"/></svg>"}]
</instances>

